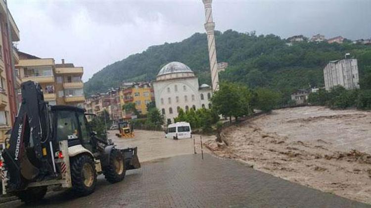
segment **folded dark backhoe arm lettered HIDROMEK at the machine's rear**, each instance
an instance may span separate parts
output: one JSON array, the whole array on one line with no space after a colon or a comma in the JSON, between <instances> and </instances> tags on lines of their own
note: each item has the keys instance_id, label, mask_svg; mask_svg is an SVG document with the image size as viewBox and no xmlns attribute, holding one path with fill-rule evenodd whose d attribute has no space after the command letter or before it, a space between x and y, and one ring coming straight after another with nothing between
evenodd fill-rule
<instances>
[{"instance_id":1,"label":"folded dark backhoe arm lettered HIDROMEK at the machine's rear","mask_svg":"<svg viewBox=\"0 0 371 208\"><path fill-rule=\"evenodd\" d=\"M51 137L48 105L40 84L24 82L21 91L18 115L7 148L2 152L8 171L8 187L12 190L24 188L30 180L50 170L50 158L44 157Z\"/></svg>"}]
</instances>

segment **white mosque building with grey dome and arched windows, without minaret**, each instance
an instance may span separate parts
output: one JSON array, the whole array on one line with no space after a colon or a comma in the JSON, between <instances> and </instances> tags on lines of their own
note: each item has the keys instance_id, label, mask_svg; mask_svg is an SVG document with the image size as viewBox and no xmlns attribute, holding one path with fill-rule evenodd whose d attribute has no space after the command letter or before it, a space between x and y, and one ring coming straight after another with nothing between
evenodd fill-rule
<instances>
[{"instance_id":1,"label":"white mosque building with grey dome and arched windows, without minaret","mask_svg":"<svg viewBox=\"0 0 371 208\"><path fill-rule=\"evenodd\" d=\"M171 62L165 65L153 82L156 107L166 122L174 122L178 109L209 108L212 89L207 84L198 84L198 78L185 64Z\"/></svg>"}]
</instances>

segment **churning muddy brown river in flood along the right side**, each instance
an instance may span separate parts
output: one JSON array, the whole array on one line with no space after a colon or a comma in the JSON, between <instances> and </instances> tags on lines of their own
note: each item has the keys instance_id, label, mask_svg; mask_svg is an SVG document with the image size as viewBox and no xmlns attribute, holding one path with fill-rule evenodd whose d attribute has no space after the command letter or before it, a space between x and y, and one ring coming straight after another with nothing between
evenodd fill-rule
<instances>
[{"instance_id":1,"label":"churning muddy brown river in flood along the right side","mask_svg":"<svg viewBox=\"0 0 371 208\"><path fill-rule=\"evenodd\" d=\"M353 111L277 110L226 130L228 146L213 140L206 145L218 156L242 160L262 172L371 204L371 155L356 150L369 145L371 113ZM346 128L336 128L337 136L328 137L336 125Z\"/></svg>"}]
</instances>

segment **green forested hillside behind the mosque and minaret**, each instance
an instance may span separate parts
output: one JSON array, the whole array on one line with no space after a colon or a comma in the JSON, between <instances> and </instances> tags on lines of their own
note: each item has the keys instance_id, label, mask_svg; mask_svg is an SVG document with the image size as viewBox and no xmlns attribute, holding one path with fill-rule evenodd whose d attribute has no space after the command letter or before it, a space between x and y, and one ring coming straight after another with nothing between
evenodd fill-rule
<instances>
[{"instance_id":1,"label":"green forested hillside behind the mosque and minaret","mask_svg":"<svg viewBox=\"0 0 371 208\"><path fill-rule=\"evenodd\" d=\"M296 89L324 86L323 68L345 53L358 59L361 88L371 86L371 45L297 42L289 46L277 35L216 31L218 62L229 67L220 81L238 82L250 88L268 87L288 100ZM189 66L199 82L211 83L206 34L196 33L176 43L150 46L98 71L84 85L86 96L105 92L124 81L152 81L165 64L179 61Z\"/></svg>"}]
</instances>

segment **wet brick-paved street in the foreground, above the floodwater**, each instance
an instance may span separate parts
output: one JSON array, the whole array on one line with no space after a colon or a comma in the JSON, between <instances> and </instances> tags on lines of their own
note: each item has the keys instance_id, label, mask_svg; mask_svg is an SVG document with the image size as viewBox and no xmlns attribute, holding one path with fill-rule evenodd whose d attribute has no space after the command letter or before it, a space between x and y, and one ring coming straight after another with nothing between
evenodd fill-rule
<instances>
[{"instance_id":1,"label":"wet brick-paved street in the foreground, above the floodwater","mask_svg":"<svg viewBox=\"0 0 371 208\"><path fill-rule=\"evenodd\" d=\"M52 193L36 207L369 207L255 171L234 160L182 155L142 164L124 181L101 176L96 191ZM19 201L2 207L17 207Z\"/></svg>"}]
</instances>

